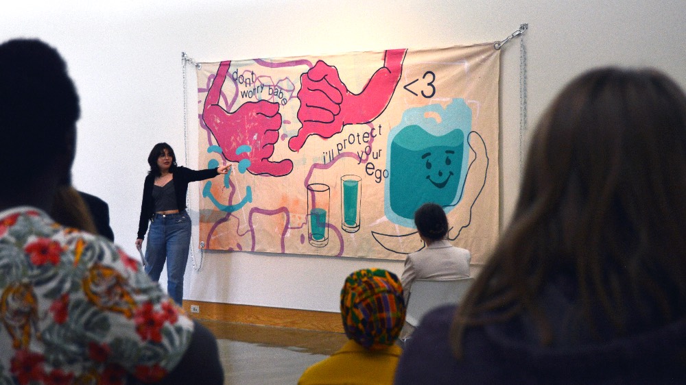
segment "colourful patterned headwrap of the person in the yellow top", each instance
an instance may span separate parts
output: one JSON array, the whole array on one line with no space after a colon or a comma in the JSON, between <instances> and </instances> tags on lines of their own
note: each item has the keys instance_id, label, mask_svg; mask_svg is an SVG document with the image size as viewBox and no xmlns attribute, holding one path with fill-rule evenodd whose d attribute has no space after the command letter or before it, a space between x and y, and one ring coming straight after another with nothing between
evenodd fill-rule
<instances>
[{"instance_id":1,"label":"colourful patterned headwrap of the person in the yellow top","mask_svg":"<svg viewBox=\"0 0 686 385\"><path fill-rule=\"evenodd\" d=\"M405 323L403 286L383 269L351 273L341 290L341 316L346 336L368 350L386 349Z\"/></svg>"}]
</instances>

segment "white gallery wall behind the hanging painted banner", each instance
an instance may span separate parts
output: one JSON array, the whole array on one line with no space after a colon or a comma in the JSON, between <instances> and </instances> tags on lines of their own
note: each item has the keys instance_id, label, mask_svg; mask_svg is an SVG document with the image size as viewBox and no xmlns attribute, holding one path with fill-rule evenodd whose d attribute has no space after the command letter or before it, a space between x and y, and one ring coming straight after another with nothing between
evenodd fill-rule
<instances>
[{"instance_id":1,"label":"white gallery wall behind the hanging painted banner","mask_svg":"<svg viewBox=\"0 0 686 385\"><path fill-rule=\"evenodd\" d=\"M116 243L137 256L134 240L152 146L168 142L179 164L198 167L196 77L187 67L186 137L182 51L199 62L216 62L445 47L502 40L522 23L530 28L523 36L529 127L524 147L556 92L591 67L654 66L686 87L683 0L25 0L3 3L0 40L41 38L67 60L82 106L74 184L109 203ZM517 38L501 55L503 223L519 188L519 83ZM402 261L217 251L201 255L198 188L189 188L196 225L185 299L335 312L351 271L403 271ZM166 286L165 279L162 284Z\"/></svg>"}]
</instances>

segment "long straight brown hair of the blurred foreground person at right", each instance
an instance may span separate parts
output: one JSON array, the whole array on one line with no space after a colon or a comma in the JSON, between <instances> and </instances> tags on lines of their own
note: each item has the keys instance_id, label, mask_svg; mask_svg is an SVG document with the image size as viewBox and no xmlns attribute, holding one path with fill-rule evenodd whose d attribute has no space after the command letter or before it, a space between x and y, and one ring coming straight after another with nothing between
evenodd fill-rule
<instances>
[{"instance_id":1,"label":"long straight brown hair of the blurred foreground person at right","mask_svg":"<svg viewBox=\"0 0 686 385\"><path fill-rule=\"evenodd\" d=\"M453 353L470 325L523 313L551 344L539 298L558 274L576 280L577 322L600 340L682 318L685 229L683 90L652 69L580 75L536 127L512 221L453 319Z\"/></svg>"}]
</instances>

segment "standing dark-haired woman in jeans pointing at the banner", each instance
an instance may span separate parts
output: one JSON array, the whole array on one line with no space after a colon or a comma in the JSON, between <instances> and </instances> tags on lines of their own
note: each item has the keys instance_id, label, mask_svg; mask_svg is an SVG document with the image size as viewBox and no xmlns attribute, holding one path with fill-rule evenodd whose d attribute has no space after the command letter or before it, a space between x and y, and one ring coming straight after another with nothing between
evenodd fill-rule
<instances>
[{"instance_id":1,"label":"standing dark-haired woman in jeans pointing at the banner","mask_svg":"<svg viewBox=\"0 0 686 385\"><path fill-rule=\"evenodd\" d=\"M231 166L200 171L177 166L174 150L167 143L156 144L147 157L147 163L150 164L150 171L143 184L136 247L141 250L150 221L145 272L157 282L167 261L167 291L169 297L181 306L183 275L191 244L191 219L186 212L188 184L226 174Z\"/></svg>"}]
</instances>

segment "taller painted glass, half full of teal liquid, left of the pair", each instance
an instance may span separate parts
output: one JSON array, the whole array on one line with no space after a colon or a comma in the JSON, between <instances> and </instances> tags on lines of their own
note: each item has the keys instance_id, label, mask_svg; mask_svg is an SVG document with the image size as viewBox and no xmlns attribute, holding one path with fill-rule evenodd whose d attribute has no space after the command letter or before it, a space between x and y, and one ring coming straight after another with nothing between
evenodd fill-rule
<instances>
[{"instance_id":1,"label":"taller painted glass, half full of teal liquid, left of the pair","mask_svg":"<svg viewBox=\"0 0 686 385\"><path fill-rule=\"evenodd\" d=\"M329 243L329 200L331 189L322 183L307 185L307 240L314 247Z\"/></svg>"}]
</instances>

